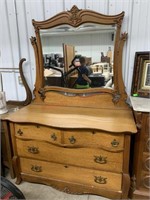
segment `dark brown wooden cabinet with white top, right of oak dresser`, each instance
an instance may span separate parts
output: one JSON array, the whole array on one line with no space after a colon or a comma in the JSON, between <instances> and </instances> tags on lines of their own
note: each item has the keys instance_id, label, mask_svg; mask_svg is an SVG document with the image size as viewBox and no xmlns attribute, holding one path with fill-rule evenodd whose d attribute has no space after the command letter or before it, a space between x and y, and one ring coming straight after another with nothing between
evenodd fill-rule
<instances>
[{"instance_id":1,"label":"dark brown wooden cabinet with white top, right of oak dresser","mask_svg":"<svg viewBox=\"0 0 150 200\"><path fill-rule=\"evenodd\" d=\"M133 199L150 198L150 99L132 97L138 133L134 137L132 192Z\"/></svg>"}]
</instances>

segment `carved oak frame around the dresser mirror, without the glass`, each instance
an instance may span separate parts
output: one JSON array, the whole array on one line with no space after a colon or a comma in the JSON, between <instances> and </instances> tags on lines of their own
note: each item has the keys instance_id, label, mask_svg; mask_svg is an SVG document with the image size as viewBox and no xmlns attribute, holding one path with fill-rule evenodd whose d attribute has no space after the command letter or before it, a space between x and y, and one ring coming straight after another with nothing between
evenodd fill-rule
<instances>
[{"instance_id":1,"label":"carved oak frame around the dresser mirror, without the glass","mask_svg":"<svg viewBox=\"0 0 150 200\"><path fill-rule=\"evenodd\" d=\"M35 80L35 88L34 95L35 101L43 101L44 96L41 91L70 91L74 93L83 93L83 89L68 89L54 86L46 86L44 87L44 63L43 63L43 52L42 52L42 44L40 37L41 29L50 29L62 24L70 25L72 27L78 27L83 23L96 23L103 25L116 25L116 36L114 42L114 89L107 88L91 88L84 89L84 93L90 92L100 92L100 93L109 93L113 95L113 101L116 103L120 100L125 101L127 98L127 94L125 91L125 86L122 77L122 52L124 42L127 39L127 33L121 34L121 26L124 18L124 12L121 12L118 15L104 15L92 10L87 9L78 9L77 6L73 6L69 11L63 11L58 13L57 15L49 18L44 21L35 21L32 20L32 24L35 29L36 37L31 37L31 44L34 48L35 61L36 61L36 80Z\"/></svg>"}]
</instances>

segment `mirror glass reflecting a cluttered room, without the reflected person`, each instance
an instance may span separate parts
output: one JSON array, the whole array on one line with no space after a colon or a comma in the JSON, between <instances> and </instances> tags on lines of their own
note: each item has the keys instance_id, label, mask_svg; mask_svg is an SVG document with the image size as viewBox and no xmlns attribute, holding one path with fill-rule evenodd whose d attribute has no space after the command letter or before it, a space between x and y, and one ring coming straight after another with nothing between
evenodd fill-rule
<instances>
[{"instance_id":1,"label":"mirror glass reflecting a cluttered room, without the reflected person","mask_svg":"<svg viewBox=\"0 0 150 200\"><path fill-rule=\"evenodd\" d=\"M80 67L75 57L85 58L90 87L113 88L113 57L116 26L82 24L41 29L45 85L75 88Z\"/></svg>"}]
</instances>

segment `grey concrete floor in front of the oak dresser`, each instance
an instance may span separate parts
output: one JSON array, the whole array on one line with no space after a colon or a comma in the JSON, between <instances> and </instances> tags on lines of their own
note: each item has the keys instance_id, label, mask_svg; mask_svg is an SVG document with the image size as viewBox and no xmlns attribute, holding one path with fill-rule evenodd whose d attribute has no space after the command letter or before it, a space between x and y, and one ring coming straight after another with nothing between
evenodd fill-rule
<instances>
[{"instance_id":1,"label":"grey concrete floor in front of the oak dresser","mask_svg":"<svg viewBox=\"0 0 150 200\"><path fill-rule=\"evenodd\" d=\"M6 174L6 178L15 184L16 179L11 179L9 172ZM16 185L16 187L21 190L27 200L108 200L107 198L96 195L66 194L50 186L28 182L21 182L21 184Z\"/></svg>"}]
</instances>

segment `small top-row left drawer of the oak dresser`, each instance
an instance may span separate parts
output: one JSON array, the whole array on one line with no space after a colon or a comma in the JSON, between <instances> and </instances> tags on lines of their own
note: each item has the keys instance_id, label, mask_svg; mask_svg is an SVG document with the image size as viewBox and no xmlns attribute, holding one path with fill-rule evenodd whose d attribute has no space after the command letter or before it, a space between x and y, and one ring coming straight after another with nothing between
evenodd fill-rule
<instances>
[{"instance_id":1,"label":"small top-row left drawer of the oak dresser","mask_svg":"<svg viewBox=\"0 0 150 200\"><path fill-rule=\"evenodd\" d=\"M15 124L15 136L22 139L45 140L61 143L61 131L40 125Z\"/></svg>"}]
</instances>

